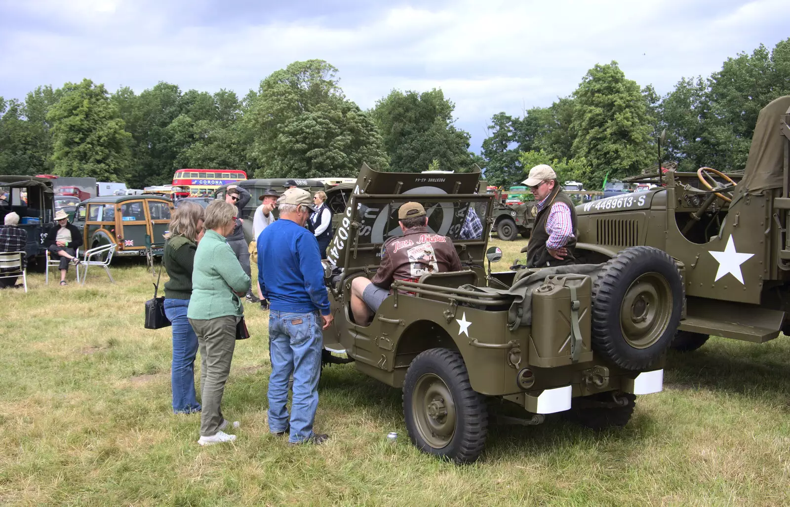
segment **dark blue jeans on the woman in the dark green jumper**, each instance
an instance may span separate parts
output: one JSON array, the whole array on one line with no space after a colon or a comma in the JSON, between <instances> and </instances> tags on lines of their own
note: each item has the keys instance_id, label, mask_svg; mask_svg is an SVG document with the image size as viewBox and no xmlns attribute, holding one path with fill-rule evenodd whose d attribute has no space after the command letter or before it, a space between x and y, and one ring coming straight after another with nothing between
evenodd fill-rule
<instances>
[{"instance_id":1,"label":"dark blue jeans on the woman in the dark green jumper","mask_svg":"<svg viewBox=\"0 0 790 507\"><path fill-rule=\"evenodd\" d=\"M198 412L201 406L195 398L195 356L198 355L198 336L186 318L189 299L165 299L164 315L173 325L173 363L171 385L173 411L176 414Z\"/></svg>"}]
</instances>

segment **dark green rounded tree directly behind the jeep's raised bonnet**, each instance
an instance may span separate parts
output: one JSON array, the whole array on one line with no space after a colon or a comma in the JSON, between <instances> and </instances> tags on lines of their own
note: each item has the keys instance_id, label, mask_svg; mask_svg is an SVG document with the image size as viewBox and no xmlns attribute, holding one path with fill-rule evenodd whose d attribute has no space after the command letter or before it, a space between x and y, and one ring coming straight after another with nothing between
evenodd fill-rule
<instances>
[{"instance_id":1,"label":"dark green rounded tree directly behind the jeep's raised bonnet","mask_svg":"<svg viewBox=\"0 0 790 507\"><path fill-rule=\"evenodd\" d=\"M426 171L438 160L445 171L468 171L474 163L469 134L453 122L455 104L440 89L393 90L376 102L372 115L382 133L393 171Z\"/></svg>"}]
</instances>

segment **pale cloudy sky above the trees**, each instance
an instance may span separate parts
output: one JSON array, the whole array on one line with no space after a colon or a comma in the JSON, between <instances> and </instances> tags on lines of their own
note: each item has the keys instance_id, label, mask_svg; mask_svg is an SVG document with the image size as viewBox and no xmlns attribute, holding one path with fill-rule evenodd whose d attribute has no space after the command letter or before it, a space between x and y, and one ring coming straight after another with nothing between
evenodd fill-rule
<instances>
[{"instance_id":1,"label":"pale cloudy sky above the trees","mask_svg":"<svg viewBox=\"0 0 790 507\"><path fill-rule=\"evenodd\" d=\"M0 96L84 77L110 91L167 81L243 96L322 58L364 109L393 88L442 88L477 151L491 115L551 105L596 63L616 60L664 95L773 47L788 21L787 0L0 0Z\"/></svg>"}]
</instances>

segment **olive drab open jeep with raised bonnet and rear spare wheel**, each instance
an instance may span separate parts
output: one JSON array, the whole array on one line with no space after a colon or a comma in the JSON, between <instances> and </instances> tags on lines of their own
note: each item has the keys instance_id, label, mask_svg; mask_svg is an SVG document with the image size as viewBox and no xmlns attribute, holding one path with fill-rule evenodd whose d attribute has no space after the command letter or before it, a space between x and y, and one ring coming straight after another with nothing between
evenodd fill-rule
<instances>
[{"instance_id":1,"label":"olive drab open jeep with raised bonnet and rear spare wheel","mask_svg":"<svg viewBox=\"0 0 790 507\"><path fill-rule=\"evenodd\" d=\"M677 265L642 247L611 265L491 272L502 252L487 248L493 196L474 193L479 178L477 167L426 175L363 165L324 261L334 316L325 360L352 361L402 389L411 441L456 463L480 456L494 419L535 425L563 412L594 428L625 425L634 395L662 389L664 352L682 312ZM416 281L395 280L372 323L359 325L352 280L374 276L383 243L402 235L397 210L408 201L424 206L432 232L452 239L462 269L436 272L416 255ZM478 238L461 237L469 208L487 209ZM633 323L621 330L623 280L640 280L643 290L629 295ZM490 413L490 399L520 407L521 417Z\"/></svg>"}]
</instances>

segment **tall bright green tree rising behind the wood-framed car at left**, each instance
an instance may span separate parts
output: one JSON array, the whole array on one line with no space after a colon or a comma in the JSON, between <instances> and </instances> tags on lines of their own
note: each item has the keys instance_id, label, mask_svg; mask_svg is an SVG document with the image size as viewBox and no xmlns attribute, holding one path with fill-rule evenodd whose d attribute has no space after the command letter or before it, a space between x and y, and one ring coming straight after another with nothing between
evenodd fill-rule
<instances>
[{"instance_id":1,"label":"tall bright green tree rising behind the wood-framed car at left","mask_svg":"<svg viewBox=\"0 0 790 507\"><path fill-rule=\"evenodd\" d=\"M58 175L126 179L131 165L130 133L124 130L118 107L104 85L94 85L89 79L66 83L47 121L52 123L52 160Z\"/></svg>"}]
</instances>

